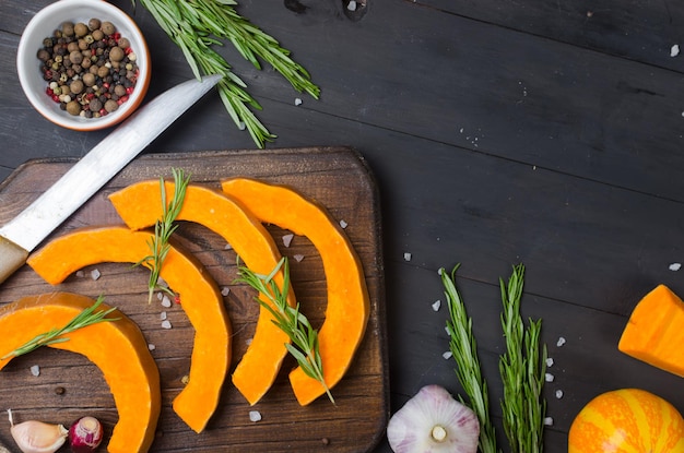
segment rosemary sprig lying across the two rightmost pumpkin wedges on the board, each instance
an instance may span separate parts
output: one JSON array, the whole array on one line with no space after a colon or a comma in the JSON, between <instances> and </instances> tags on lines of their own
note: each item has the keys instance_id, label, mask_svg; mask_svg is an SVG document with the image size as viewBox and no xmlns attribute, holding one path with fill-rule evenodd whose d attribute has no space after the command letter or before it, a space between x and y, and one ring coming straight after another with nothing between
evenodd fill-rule
<instances>
[{"instance_id":1,"label":"rosemary sprig lying across the two rightmost pumpkin wedges on the board","mask_svg":"<svg viewBox=\"0 0 684 453\"><path fill-rule=\"evenodd\" d=\"M273 277L281 269L283 270L282 289L273 281ZM334 404L334 398L323 379L323 363L318 348L318 331L299 312L299 303L296 307L287 303L287 293L290 290L290 265L287 259L282 258L269 275L257 274L246 266L239 266L238 274L238 283L246 283L271 301L272 306L256 297L261 307L271 312L273 323L290 337L292 344L285 343L287 351L297 360L306 375L321 383L326 389L328 397Z\"/></svg>"}]
</instances>

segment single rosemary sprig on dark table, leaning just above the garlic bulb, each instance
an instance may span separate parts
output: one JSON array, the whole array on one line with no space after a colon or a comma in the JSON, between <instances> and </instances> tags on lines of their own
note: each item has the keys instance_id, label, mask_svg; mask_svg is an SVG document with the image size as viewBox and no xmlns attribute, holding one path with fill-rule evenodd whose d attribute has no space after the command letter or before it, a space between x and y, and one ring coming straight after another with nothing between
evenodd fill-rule
<instances>
[{"instance_id":1,"label":"single rosemary sprig on dark table, leaning just above the garlic bulb","mask_svg":"<svg viewBox=\"0 0 684 453\"><path fill-rule=\"evenodd\" d=\"M447 320L449 349L457 363L456 374L459 382L470 400L470 407L480 420L480 452L498 453L500 450L496 446L496 433L490 415L487 383L482 377L472 319L468 315L465 305L456 287L456 272L460 264L457 264L450 274L444 267L439 270L449 308L449 320ZM463 403L462 398L460 400Z\"/></svg>"}]
</instances>

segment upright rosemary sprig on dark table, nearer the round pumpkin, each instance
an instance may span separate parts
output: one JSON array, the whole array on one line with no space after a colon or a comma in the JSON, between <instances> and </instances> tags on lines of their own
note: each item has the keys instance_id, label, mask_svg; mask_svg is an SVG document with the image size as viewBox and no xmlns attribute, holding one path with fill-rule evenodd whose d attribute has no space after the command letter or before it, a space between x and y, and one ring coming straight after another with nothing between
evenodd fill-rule
<instances>
[{"instance_id":1,"label":"upright rosemary sprig on dark table, nearer the round pumpkin","mask_svg":"<svg viewBox=\"0 0 684 453\"><path fill-rule=\"evenodd\" d=\"M506 353L499 359L504 382L504 431L512 453L543 451L546 402L542 396L546 372L546 346L541 345L541 320L529 320L526 327L520 314L524 266L514 266L508 285L499 278L504 311L502 327Z\"/></svg>"}]
</instances>

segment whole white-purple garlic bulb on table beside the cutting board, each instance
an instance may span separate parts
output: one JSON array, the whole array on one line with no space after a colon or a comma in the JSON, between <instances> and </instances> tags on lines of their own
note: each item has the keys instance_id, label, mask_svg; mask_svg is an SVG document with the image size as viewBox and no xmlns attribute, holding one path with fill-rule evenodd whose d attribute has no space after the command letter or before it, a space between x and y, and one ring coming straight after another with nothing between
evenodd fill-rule
<instances>
[{"instance_id":1,"label":"whole white-purple garlic bulb on table beside the cutting board","mask_svg":"<svg viewBox=\"0 0 684 453\"><path fill-rule=\"evenodd\" d=\"M389 420L394 453L476 453L480 421L439 385L426 385Z\"/></svg>"}]
</instances>

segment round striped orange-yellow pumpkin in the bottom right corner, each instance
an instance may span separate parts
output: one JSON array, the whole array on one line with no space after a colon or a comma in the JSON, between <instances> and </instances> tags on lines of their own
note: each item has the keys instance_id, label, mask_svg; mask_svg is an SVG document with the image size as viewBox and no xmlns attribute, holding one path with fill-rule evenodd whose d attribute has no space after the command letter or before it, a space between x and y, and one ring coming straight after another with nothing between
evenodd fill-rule
<instances>
[{"instance_id":1,"label":"round striped orange-yellow pumpkin in the bottom right corner","mask_svg":"<svg viewBox=\"0 0 684 453\"><path fill-rule=\"evenodd\" d=\"M669 402L639 389L591 400L568 433L568 453L684 453L684 419Z\"/></svg>"}]
</instances>

